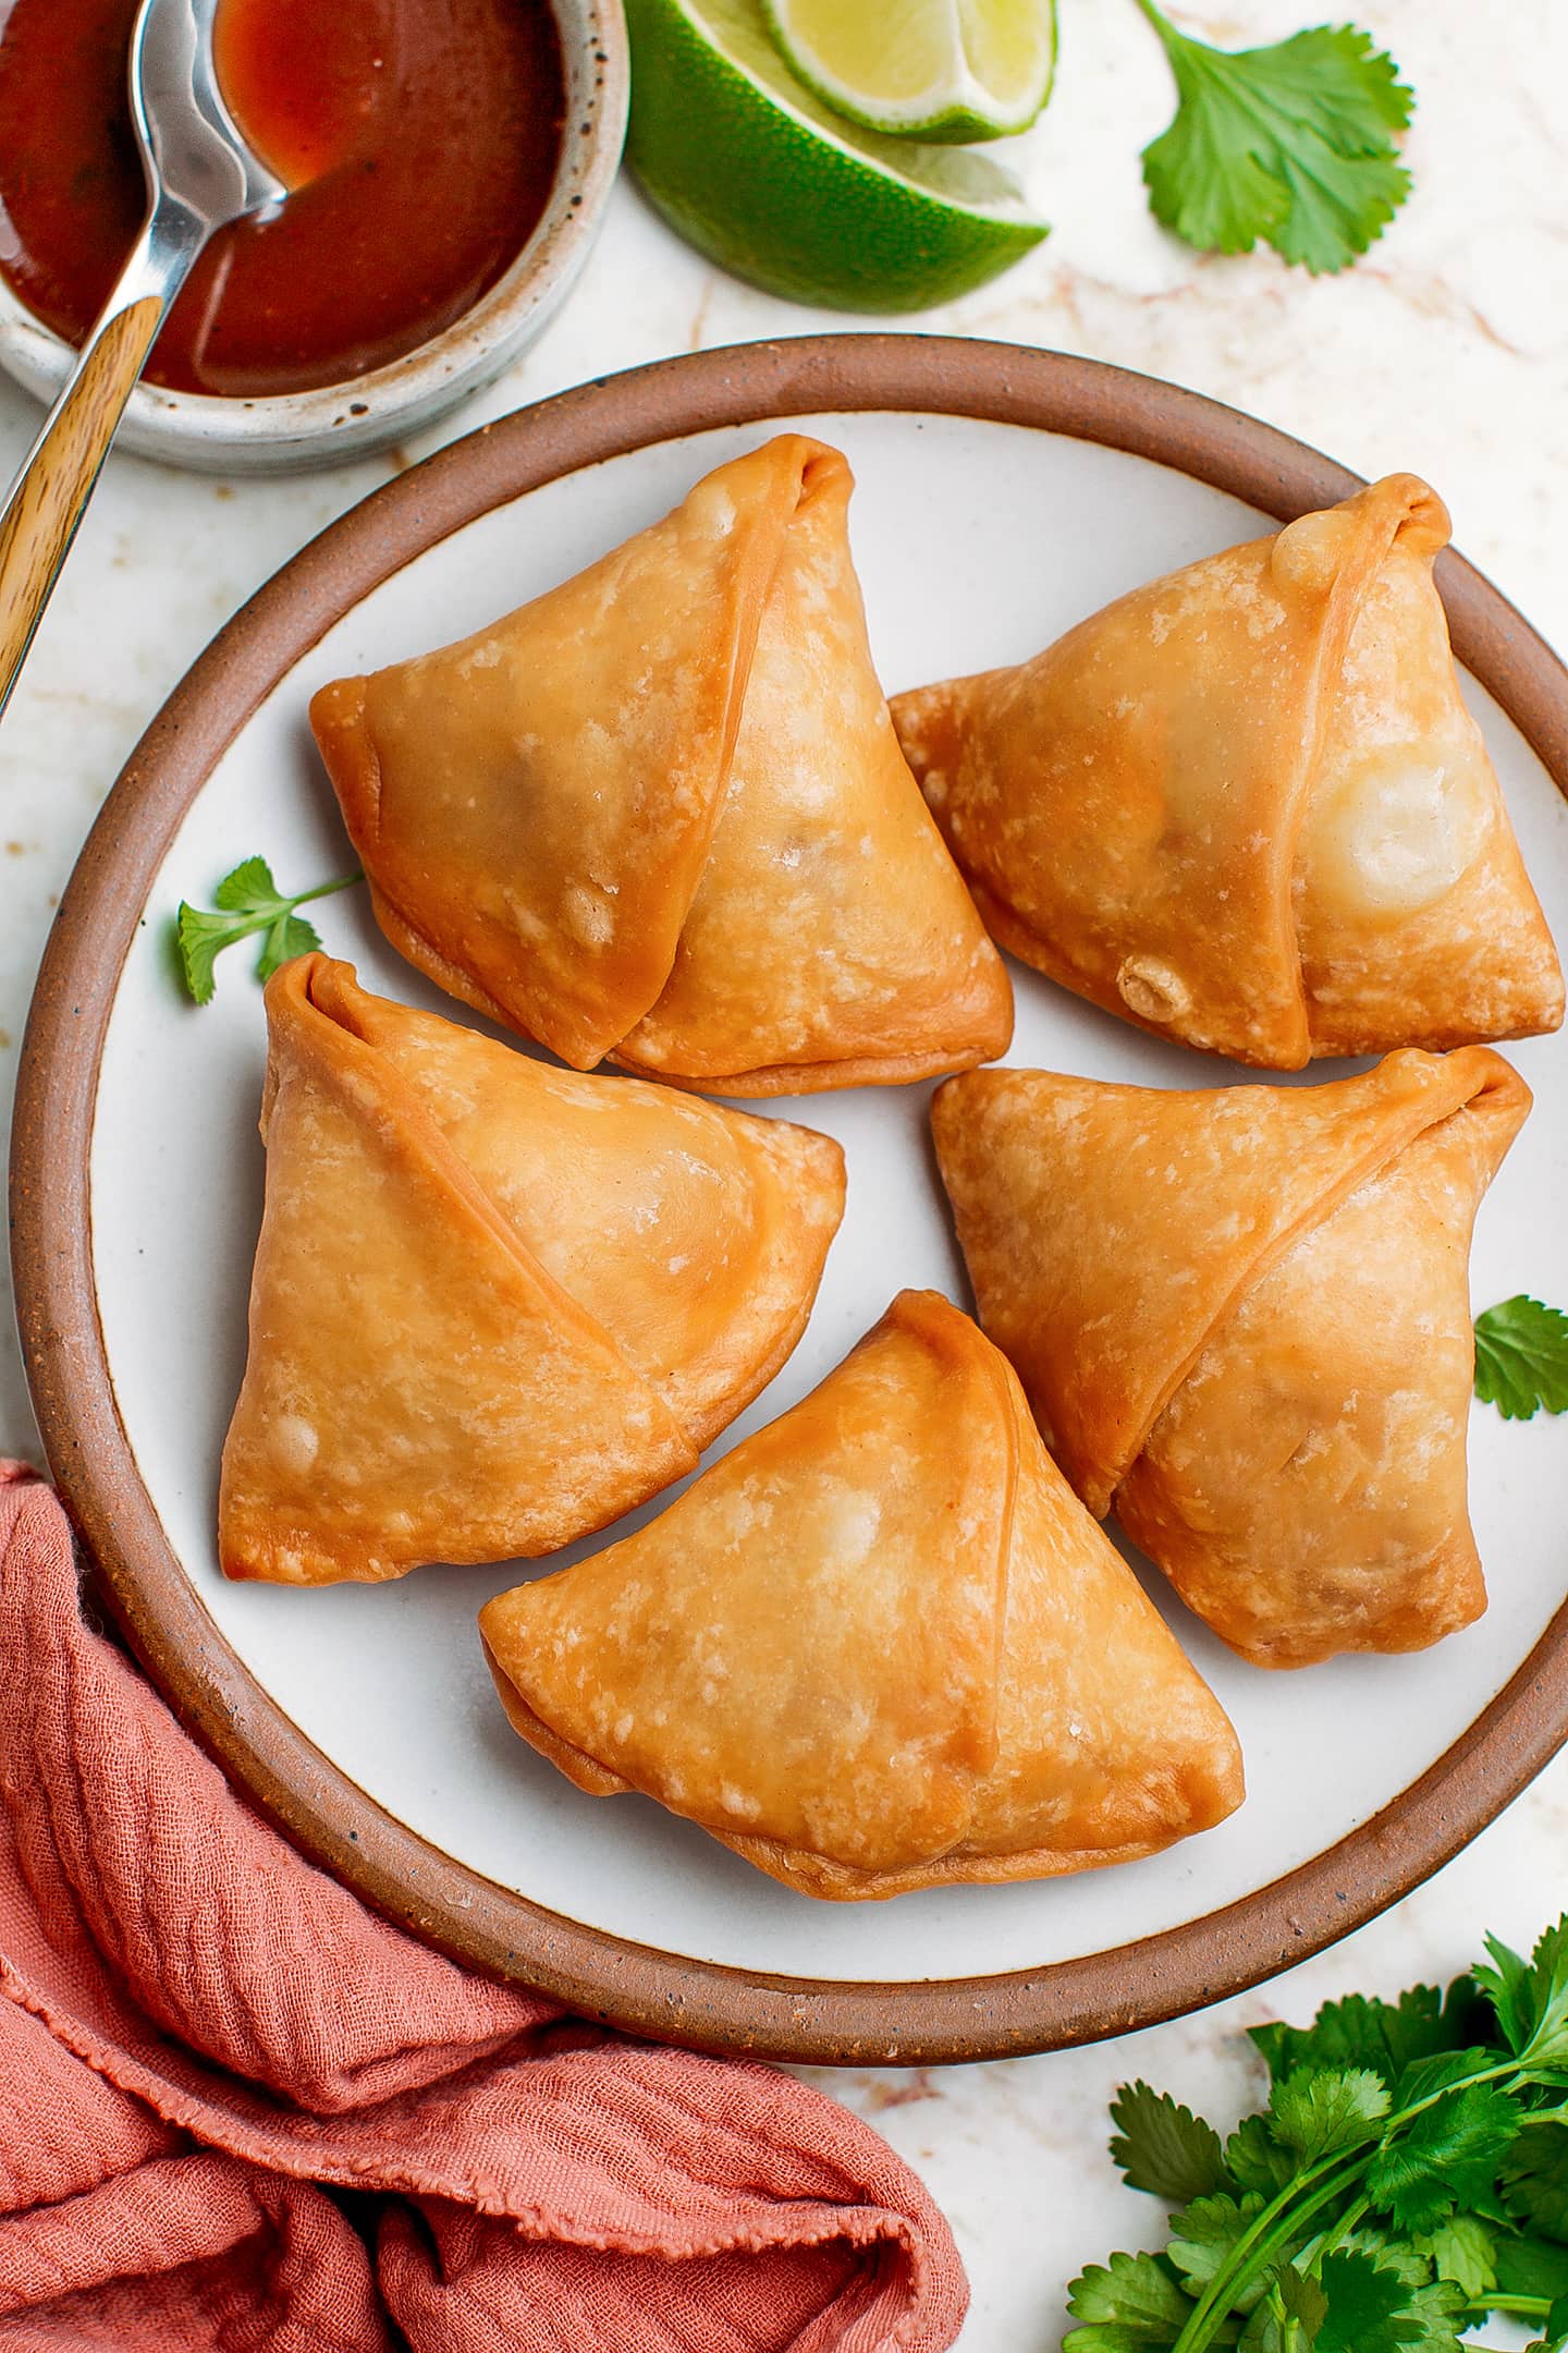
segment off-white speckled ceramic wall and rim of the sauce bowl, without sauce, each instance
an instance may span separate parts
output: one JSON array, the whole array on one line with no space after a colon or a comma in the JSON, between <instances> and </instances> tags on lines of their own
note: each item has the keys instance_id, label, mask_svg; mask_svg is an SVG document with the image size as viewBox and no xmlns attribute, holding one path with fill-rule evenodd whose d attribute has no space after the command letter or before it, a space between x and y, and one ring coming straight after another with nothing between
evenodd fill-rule
<instances>
[{"instance_id":1,"label":"off-white speckled ceramic wall and rim of the sauce bowl, without sauce","mask_svg":"<svg viewBox=\"0 0 1568 2353\"><path fill-rule=\"evenodd\" d=\"M555 318L599 233L625 141L621 0L550 0L567 68L562 160L538 228L489 294L416 351L348 384L259 400L139 384L118 445L200 473L306 473L383 449L498 376ZM54 400L73 353L0 278L0 367Z\"/></svg>"}]
</instances>

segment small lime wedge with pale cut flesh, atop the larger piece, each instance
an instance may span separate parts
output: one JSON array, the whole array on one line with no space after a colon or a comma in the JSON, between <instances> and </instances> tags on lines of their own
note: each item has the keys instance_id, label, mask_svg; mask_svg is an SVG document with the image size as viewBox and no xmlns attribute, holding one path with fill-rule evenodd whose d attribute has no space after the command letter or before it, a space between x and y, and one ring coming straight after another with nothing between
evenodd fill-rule
<instances>
[{"instance_id":1,"label":"small lime wedge with pale cut flesh, atop the larger piece","mask_svg":"<svg viewBox=\"0 0 1568 2353\"><path fill-rule=\"evenodd\" d=\"M1056 0L762 0L802 82L896 139L1004 139L1051 96Z\"/></svg>"}]
</instances>

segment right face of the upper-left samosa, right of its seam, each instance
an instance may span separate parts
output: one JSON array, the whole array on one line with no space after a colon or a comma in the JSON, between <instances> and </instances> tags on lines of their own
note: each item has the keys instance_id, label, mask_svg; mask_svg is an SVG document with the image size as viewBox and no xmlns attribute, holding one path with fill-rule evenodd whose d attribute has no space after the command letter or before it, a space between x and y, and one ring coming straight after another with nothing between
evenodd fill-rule
<instances>
[{"instance_id":1,"label":"right face of the upper-left samosa, right of its seam","mask_svg":"<svg viewBox=\"0 0 1568 2353\"><path fill-rule=\"evenodd\" d=\"M1001 958L872 668L851 487L844 459L823 459L790 518L675 967L618 1056L654 1075L865 1064L917 1078L1009 1042Z\"/></svg>"}]
</instances>

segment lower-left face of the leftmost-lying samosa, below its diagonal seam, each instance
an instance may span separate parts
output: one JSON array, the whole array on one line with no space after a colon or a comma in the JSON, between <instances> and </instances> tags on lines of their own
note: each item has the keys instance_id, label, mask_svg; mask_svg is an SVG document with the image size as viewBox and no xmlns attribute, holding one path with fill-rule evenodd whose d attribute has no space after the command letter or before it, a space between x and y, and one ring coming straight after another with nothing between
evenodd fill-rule
<instances>
[{"instance_id":1,"label":"lower-left face of the leftmost-lying samosa, below its diagonal seam","mask_svg":"<svg viewBox=\"0 0 1568 2353\"><path fill-rule=\"evenodd\" d=\"M273 1012L228 1574L322 1584L548 1551L686 1471L665 1402L402 1115L376 1056L284 991Z\"/></svg>"}]
</instances>

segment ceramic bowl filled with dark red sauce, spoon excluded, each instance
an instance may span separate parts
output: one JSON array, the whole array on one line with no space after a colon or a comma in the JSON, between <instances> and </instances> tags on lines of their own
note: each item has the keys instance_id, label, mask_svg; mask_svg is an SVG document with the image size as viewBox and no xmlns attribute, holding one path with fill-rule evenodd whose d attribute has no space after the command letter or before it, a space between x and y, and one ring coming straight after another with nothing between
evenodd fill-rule
<instances>
[{"instance_id":1,"label":"ceramic bowl filled with dark red sauce, spoon excluded","mask_svg":"<svg viewBox=\"0 0 1568 2353\"><path fill-rule=\"evenodd\" d=\"M52 398L146 209L136 0L0 0L0 365ZM221 0L214 64L289 186L181 289L122 447L214 471L416 431L529 344L625 129L616 0Z\"/></svg>"}]
</instances>

